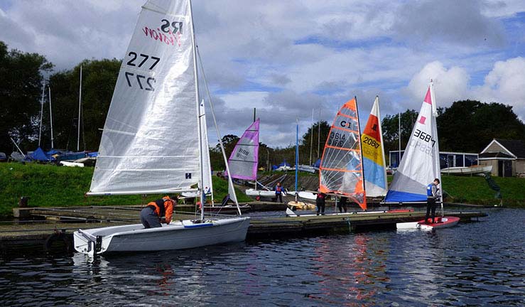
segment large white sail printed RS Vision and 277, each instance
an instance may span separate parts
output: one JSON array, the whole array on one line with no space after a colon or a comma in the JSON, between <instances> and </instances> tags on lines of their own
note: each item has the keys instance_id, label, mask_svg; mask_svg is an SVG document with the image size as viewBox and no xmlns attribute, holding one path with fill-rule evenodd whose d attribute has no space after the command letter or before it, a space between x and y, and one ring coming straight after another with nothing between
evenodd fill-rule
<instances>
[{"instance_id":1,"label":"large white sail printed RS Vision and 277","mask_svg":"<svg viewBox=\"0 0 525 307\"><path fill-rule=\"evenodd\" d=\"M170 193L198 183L192 31L188 1L150 0L143 6L120 68L88 194Z\"/></svg>"}]
</instances>

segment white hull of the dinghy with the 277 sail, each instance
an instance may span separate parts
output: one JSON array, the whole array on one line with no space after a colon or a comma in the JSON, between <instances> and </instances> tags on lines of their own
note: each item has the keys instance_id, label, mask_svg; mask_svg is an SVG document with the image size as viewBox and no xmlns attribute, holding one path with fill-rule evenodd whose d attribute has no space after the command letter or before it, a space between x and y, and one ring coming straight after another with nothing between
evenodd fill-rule
<instances>
[{"instance_id":1,"label":"white hull of the dinghy with the 277 sail","mask_svg":"<svg viewBox=\"0 0 525 307\"><path fill-rule=\"evenodd\" d=\"M183 220L148 229L134 224L78 230L73 238L77 252L91 256L107 252L152 252L242 242L249 225L249 217L204 222Z\"/></svg>"}]
</instances>

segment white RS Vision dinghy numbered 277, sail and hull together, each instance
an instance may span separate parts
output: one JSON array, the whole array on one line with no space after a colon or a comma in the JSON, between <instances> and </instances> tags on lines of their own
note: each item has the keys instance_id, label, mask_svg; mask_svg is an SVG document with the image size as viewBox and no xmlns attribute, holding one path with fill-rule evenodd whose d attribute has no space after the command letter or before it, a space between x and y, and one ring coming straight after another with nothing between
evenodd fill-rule
<instances>
[{"instance_id":1,"label":"white RS Vision dinghy numbered 277, sail and hull together","mask_svg":"<svg viewBox=\"0 0 525 307\"><path fill-rule=\"evenodd\" d=\"M190 1L148 0L121 65L87 195L198 191L205 203L204 183L211 170L203 161L199 102ZM231 181L229 188L234 193ZM93 256L245 239L249 217L205 220L201 208L199 220L158 228L136 224L78 230L75 249Z\"/></svg>"}]
</instances>

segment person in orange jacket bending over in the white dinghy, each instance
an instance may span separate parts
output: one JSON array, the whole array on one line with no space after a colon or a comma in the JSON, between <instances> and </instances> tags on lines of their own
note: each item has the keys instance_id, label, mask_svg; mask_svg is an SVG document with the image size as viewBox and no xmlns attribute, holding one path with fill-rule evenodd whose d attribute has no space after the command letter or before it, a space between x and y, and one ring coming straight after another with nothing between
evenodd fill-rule
<instances>
[{"instance_id":1,"label":"person in orange jacket bending over in the white dinghy","mask_svg":"<svg viewBox=\"0 0 525 307\"><path fill-rule=\"evenodd\" d=\"M164 196L161 199L148 203L141 210L141 223L144 228L162 227L161 222L169 224L173 217L173 207L177 203L178 196Z\"/></svg>"}]
</instances>

